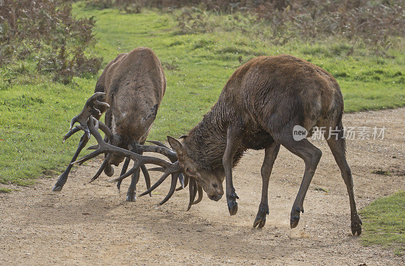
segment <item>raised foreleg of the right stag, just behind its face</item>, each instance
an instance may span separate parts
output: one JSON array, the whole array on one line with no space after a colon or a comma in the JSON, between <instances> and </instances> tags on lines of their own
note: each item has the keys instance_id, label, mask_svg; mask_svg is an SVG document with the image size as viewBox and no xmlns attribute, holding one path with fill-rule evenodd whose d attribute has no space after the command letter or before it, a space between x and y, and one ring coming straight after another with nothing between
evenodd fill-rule
<instances>
[{"instance_id":1,"label":"raised foreleg of the right stag, just behind its face","mask_svg":"<svg viewBox=\"0 0 405 266\"><path fill-rule=\"evenodd\" d=\"M226 182L226 201L228 203L228 210L230 215L235 215L237 212L236 199L239 197L236 195L235 188L232 181L232 166L233 156L235 155L241 138L241 127L229 127L227 132L226 149L222 158L222 164L225 170L225 182Z\"/></svg>"}]
</instances>

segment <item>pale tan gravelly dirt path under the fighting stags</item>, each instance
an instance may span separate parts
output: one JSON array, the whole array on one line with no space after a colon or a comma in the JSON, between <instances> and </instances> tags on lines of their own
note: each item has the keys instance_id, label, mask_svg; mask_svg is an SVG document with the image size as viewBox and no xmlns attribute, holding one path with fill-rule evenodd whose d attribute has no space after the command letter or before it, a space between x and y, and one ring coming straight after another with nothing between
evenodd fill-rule
<instances>
[{"instance_id":1,"label":"pale tan gravelly dirt path under the fighting stags","mask_svg":"<svg viewBox=\"0 0 405 266\"><path fill-rule=\"evenodd\" d=\"M404 121L405 109L344 116L345 126L386 127L385 140L348 140L358 208L405 189ZM188 189L153 207L166 195L169 181L153 197L127 202L129 179L121 194L104 174L88 183L101 163L97 159L74 169L61 192L51 190L54 176L0 194L0 264L404 265L403 256L379 246L364 247L351 236L349 200L338 167L325 140L312 142L323 155L295 229L290 229L290 210L304 164L285 148L273 169L270 215L261 230L252 225L260 202L263 151L248 151L234 170L240 199L232 217L225 197L214 202L204 195L186 211ZM141 177L138 193L144 189Z\"/></svg>"}]
</instances>

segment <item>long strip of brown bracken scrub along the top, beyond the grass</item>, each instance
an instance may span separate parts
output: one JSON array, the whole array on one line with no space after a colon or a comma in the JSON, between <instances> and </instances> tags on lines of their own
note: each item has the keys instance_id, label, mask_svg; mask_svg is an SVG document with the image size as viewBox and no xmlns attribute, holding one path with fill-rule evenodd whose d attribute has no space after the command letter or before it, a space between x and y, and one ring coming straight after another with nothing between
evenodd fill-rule
<instances>
[{"instance_id":1,"label":"long strip of brown bracken scrub along the top, beyond the grass","mask_svg":"<svg viewBox=\"0 0 405 266\"><path fill-rule=\"evenodd\" d=\"M177 15L180 34L211 32L215 27L252 31L240 25L264 22L275 44L341 36L376 47L401 46L405 34L405 0L97 0L98 6L118 7L131 13L142 8L181 9ZM94 1L87 1L94 5ZM103 3L103 4L100 4ZM193 8L193 9L190 9ZM208 12L208 13L207 13ZM230 14L228 25L208 16ZM240 16L240 14L243 14ZM247 14L249 14L247 16ZM251 19L250 15L254 15ZM245 19L245 21L244 21ZM236 25L233 25L235 24ZM257 35L256 32L255 34ZM399 37L393 38L393 37Z\"/></svg>"}]
</instances>

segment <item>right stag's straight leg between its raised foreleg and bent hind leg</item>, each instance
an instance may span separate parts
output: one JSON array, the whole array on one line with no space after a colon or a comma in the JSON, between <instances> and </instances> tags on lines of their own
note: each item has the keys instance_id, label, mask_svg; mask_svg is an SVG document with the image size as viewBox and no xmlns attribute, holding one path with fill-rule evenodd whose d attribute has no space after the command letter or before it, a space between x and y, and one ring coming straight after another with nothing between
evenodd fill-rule
<instances>
[{"instance_id":1,"label":"right stag's straight leg between its raised foreleg and bent hind leg","mask_svg":"<svg viewBox=\"0 0 405 266\"><path fill-rule=\"evenodd\" d=\"M257 216L255 222L253 223L253 227L259 225L258 228L262 228L266 223L266 216L269 214L269 205L267 199L267 193L269 188L269 179L271 175L271 171L273 170L274 161L277 157L278 151L280 150L280 144L273 142L270 146L265 149L265 155L263 160L263 165L261 169L262 174L262 200L260 201L259 211L257 212Z\"/></svg>"}]
</instances>

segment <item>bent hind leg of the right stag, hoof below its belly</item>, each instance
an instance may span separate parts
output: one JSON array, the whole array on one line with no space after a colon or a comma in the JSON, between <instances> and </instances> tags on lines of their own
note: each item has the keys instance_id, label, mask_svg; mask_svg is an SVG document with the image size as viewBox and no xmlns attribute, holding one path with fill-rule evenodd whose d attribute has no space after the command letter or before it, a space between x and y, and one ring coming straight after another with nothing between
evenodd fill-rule
<instances>
[{"instance_id":1,"label":"bent hind leg of the right stag, hoof below its belly","mask_svg":"<svg viewBox=\"0 0 405 266\"><path fill-rule=\"evenodd\" d=\"M298 125L298 124L297 124ZM288 126L282 132L274 134L274 139L286 147L289 151L299 156L304 160L305 172L302 178L301 186L298 191L297 197L294 201L291 210L290 227L295 228L300 220L300 212L304 212L304 198L308 191L309 184L315 174L316 167L318 166L319 159L322 156L322 151L315 147L306 138L301 140L294 140L293 127Z\"/></svg>"}]
</instances>

